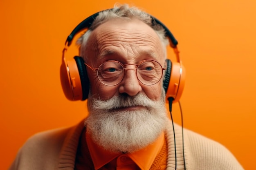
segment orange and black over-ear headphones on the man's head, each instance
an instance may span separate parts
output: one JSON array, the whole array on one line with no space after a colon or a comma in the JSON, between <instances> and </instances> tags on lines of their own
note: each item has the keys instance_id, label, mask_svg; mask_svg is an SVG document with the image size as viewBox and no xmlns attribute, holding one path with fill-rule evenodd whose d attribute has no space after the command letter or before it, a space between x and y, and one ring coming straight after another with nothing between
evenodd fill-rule
<instances>
[{"instance_id":1,"label":"orange and black over-ear headphones on the man's head","mask_svg":"<svg viewBox=\"0 0 256 170\"><path fill-rule=\"evenodd\" d=\"M66 60L65 52L71 45L74 35L76 35L76 33L79 33L83 29L88 29L98 15L99 12L83 20L70 33L65 42L65 48L63 49L62 55L62 64L60 68L61 85L67 99L72 101L85 100L88 98L90 82L88 79L86 66L84 64L83 58L75 56L70 60ZM166 102L170 97L174 99L173 102L178 102L182 95L185 82L185 69L180 61L179 51L177 49L178 42L177 40L175 40L171 31L169 31L168 28L164 24L162 24L162 22L160 22L153 16L151 16L151 18L153 24L160 24L165 29L166 36L170 40L170 46L173 48L177 58L177 62L171 62L171 60L166 59L167 69L164 74L163 87L166 93Z\"/></svg>"}]
</instances>

